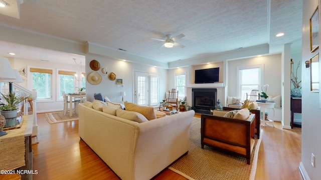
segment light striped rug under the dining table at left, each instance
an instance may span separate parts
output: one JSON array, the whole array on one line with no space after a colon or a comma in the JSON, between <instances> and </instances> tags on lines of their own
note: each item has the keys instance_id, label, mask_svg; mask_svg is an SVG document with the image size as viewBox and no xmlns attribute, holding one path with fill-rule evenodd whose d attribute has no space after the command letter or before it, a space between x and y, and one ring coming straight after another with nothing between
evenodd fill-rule
<instances>
[{"instance_id":1,"label":"light striped rug under the dining table at left","mask_svg":"<svg viewBox=\"0 0 321 180\"><path fill-rule=\"evenodd\" d=\"M69 116L69 112L64 115L64 111L48 112L45 113L45 117L50 124L78 120L78 114L75 112L72 113L72 116Z\"/></svg>"}]
</instances>

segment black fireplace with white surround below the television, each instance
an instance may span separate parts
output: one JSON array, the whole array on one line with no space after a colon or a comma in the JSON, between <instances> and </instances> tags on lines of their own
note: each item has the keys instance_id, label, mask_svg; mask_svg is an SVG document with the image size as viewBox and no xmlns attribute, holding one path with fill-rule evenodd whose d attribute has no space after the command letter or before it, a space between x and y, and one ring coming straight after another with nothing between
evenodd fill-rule
<instances>
[{"instance_id":1,"label":"black fireplace with white surround below the television","mask_svg":"<svg viewBox=\"0 0 321 180\"><path fill-rule=\"evenodd\" d=\"M192 103L196 112L210 114L210 109L214 107L217 98L216 88L193 88Z\"/></svg>"}]
</instances>

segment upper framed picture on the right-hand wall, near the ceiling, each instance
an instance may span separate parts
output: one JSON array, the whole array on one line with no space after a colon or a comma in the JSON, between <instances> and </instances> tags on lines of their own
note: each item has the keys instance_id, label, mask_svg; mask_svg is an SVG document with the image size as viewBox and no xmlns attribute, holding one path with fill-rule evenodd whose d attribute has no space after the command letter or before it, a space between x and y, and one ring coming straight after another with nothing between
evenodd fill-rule
<instances>
[{"instance_id":1,"label":"upper framed picture on the right-hand wall, near the ceiling","mask_svg":"<svg viewBox=\"0 0 321 180\"><path fill-rule=\"evenodd\" d=\"M318 8L314 10L310 18L310 50L314 52L319 47L319 17Z\"/></svg>"}]
</instances>

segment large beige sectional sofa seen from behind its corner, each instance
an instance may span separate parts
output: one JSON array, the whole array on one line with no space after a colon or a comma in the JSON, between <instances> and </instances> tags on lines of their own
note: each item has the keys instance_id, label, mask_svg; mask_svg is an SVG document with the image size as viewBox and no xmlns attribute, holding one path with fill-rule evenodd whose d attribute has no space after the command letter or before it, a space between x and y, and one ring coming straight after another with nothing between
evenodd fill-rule
<instances>
[{"instance_id":1,"label":"large beige sectional sofa seen from behind its corner","mask_svg":"<svg viewBox=\"0 0 321 180\"><path fill-rule=\"evenodd\" d=\"M78 109L80 138L121 179L150 179L189 150L193 110L138 123L111 109Z\"/></svg>"}]
</instances>

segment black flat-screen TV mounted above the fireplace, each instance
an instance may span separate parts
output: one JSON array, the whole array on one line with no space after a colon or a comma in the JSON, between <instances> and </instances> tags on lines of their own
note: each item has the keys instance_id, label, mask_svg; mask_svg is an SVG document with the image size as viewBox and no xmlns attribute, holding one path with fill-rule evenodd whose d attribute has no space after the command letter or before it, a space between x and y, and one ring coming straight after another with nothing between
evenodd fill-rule
<instances>
[{"instance_id":1,"label":"black flat-screen TV mounted above the fireplace","mask_svg":"<svg viewBox=\"0 0 321 180\"><path fill-rule=\"evenodd\" d=\"M219 81L220 67L195 70L195 83L214 83Z\"/></svg>"}]
</instances>

